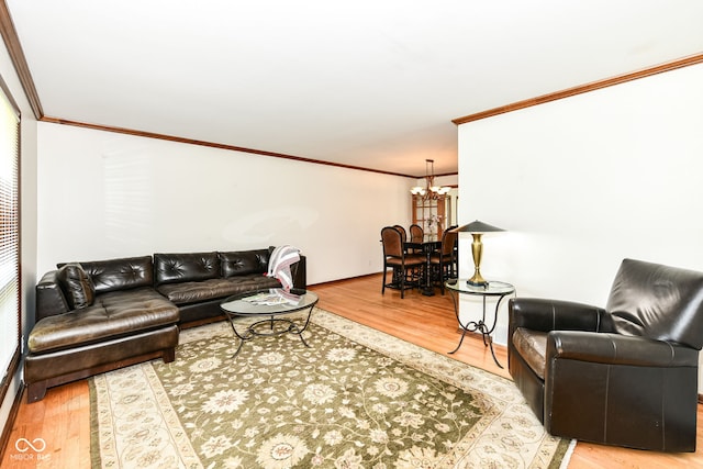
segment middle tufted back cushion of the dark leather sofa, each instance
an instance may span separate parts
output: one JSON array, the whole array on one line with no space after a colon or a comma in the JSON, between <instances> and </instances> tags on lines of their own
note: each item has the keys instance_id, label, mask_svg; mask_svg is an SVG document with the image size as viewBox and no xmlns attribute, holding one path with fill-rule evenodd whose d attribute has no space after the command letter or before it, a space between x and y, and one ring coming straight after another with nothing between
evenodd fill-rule
<instances>
[{"instance_id":1,"label":"middle tufted back cushion of the dark leather sofa","mask_svg":"<svg viewBox=\"0 0 703 469\"><path fill-rule=\"evenodd\" d=\"M217 253L154 254L156 286L220 277Z\"/></svg>"}]
</instances>

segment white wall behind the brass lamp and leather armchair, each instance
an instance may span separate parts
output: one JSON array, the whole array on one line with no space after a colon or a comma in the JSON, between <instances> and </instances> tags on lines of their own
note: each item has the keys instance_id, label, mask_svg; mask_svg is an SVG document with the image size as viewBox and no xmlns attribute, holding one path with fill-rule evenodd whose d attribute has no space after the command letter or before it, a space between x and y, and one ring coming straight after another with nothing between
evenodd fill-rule
<instances>
[{"instance_id":1,"label":"white wall behind the brass lamp and leather armchair","mask_svg":"<svg viewBox=\"0 0 703 469\"><path fill-rule=\"evenodd\" d=\"M483 236L483 277L605 305L625 257L703 270L701 83L691 66L461 125L459 223L506 230Z\"/></svg>"}]
</instances>

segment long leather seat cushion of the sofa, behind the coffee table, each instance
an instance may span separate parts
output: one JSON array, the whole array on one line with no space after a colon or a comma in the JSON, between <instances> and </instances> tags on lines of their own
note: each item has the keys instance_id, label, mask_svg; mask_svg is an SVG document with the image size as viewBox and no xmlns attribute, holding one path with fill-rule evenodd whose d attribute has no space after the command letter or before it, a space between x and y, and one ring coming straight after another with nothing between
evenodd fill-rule
<instances>
[{"instance_id":1,"label":"long leather seat cushion of the sofa, behind the coffee table","mask_svg":"<svg viewBox=\"0 0 703 469\"><path fill-rule=\"evenodd\" d=\"M275 278L263 273L249 273L226 279L161 284L157 290L168 300L180 305L217 298L224 300L233 294L265 288L280 288L280 286Z\"/></svg>"}]
</instances>

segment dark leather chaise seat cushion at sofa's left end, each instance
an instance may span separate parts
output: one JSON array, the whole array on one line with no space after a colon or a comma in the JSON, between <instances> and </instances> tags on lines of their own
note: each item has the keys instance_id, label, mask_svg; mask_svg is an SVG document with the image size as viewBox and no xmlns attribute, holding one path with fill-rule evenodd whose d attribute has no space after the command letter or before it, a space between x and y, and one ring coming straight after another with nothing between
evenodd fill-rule
<instances>
[{"instance_id":1,"label":"dark leather chaise seat cushion at sofa's left end","mask_svg":"<svg viewBox=\"0 0 703 469\"><path fill-rule=\"evenodd\" d=\"M153 288L102 293L90 306L38 321L30 333L29 348L32 354L71 348L178 320L178 308Z\"/></svg>"}]
</instances>

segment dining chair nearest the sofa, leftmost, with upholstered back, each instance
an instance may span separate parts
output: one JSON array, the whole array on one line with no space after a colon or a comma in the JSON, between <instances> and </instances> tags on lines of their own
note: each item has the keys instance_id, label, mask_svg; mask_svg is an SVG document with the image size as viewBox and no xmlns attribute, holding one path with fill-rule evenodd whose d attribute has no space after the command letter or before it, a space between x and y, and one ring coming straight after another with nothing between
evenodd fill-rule
<instances>
[{"instance_id":1,"label":"dining chair nearest the sofa, leftmost, with upholstered back","mask_svg":"<svg viewBox=\"0 0 703 469\"><path fill-rule=\"evenodd\" d=\"M381 243L383 245L381 294L386 292L386 287L398 288L400 289L400 298L404 298L406 288L417 286L425 258L422 255L405 253L403 235L395 226L386 226L381 230ZM393 281L390 283L386 280L389 268L393 269Z\"/></svg>"}]
</instances>

